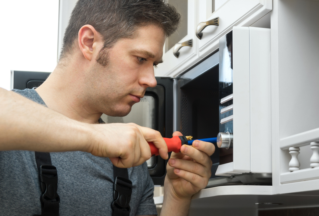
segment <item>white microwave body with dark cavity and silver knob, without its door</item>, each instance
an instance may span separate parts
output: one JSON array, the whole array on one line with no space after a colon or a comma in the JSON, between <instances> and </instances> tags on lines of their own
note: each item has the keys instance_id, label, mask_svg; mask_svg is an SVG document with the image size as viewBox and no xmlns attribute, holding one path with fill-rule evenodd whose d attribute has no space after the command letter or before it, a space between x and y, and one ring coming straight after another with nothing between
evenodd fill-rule
<instances>
[{"instance_id":1,"label":"white microwave body with dark cavity and silver knob, without its door","mask_svg":"<svg viewBox=\"0 0 319 216\"><path fill-rule=\"evenodd\" d=\"M234 27L173 78L174 131L218 138L207 187L272 184L270 56L270 29Z\"/></svg>"}]
</instances>

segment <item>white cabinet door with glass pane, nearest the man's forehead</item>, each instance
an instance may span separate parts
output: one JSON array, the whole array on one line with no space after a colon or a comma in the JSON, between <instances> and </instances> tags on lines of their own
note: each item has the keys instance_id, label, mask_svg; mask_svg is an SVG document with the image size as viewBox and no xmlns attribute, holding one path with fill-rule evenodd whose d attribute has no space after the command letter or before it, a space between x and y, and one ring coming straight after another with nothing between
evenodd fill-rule
<instances>
[{"instance_id":1,"label":"white cabinet door with glass pane, nearest the man's forehead","mask_svg":"<svg viewBox=\"0 0 319 216\"><path fill-rule=\"evenodd\" d=\"M163 49L163 63L155 69L157 76L175 76L188 68L198 58L198 40L195 36L195 25L198 23L197 0L168 0L182 15L182 24L172 36L166 39ZM180 48L178 57L174 56L174 46L177 43L188 43L192 40L192 47ZM189 42L190 43L190 42Z\"/></svg>"}]
</instances>

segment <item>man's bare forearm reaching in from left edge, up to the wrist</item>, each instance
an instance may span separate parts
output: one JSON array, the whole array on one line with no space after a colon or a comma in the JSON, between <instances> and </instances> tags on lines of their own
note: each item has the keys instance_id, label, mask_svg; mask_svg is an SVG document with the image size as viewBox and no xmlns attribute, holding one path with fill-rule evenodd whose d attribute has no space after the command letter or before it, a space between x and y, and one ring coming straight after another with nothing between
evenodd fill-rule
<instances>
[{"instance_id":1,"label":"man's bare forearm reaching in from left edge, up to the wrist","mask_svg":"<svg viewBox=\"0 0 319 216\"><path fill-rule=\"evenodd\" d=\"M89 127L0 88L0 150L84 150Z\"/></svg>"}]
</instances>

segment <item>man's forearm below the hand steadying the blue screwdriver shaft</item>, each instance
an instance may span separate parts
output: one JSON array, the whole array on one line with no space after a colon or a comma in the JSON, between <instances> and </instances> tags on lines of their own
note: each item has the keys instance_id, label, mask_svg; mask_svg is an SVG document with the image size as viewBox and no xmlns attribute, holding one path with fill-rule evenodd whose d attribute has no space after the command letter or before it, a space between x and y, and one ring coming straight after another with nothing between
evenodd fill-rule
<instances>
[{"instance_id":1,"label":"man's forearm below the hand steadying the blue screwdriver shaft","mask_svg":"<svg viewBox=\"0 0 319 216\"><path fill-rule=\"evenodd\" d=\"M186 216L188 215L191 199L178 198L172 192L173 188L164 183L164 200L160 216Z\"/></svg>"}]
</instances>

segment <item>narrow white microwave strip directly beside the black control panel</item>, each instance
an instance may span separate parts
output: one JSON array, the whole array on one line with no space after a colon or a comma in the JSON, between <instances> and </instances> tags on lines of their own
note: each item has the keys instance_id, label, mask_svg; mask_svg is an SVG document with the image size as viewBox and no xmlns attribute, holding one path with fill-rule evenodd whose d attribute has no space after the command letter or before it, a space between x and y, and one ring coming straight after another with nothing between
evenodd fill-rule
<instances>
[{"instance_id":1,"label":"narrow white microwave strip directly beside the black control panel","mask_svg":"<svg viewBox=\"0 0 319 216\"><path fill-rule=\"evenodd\" d=\"M233 28L234 171L250 172L249 27Z\"/></svg>"}]
</instances>

